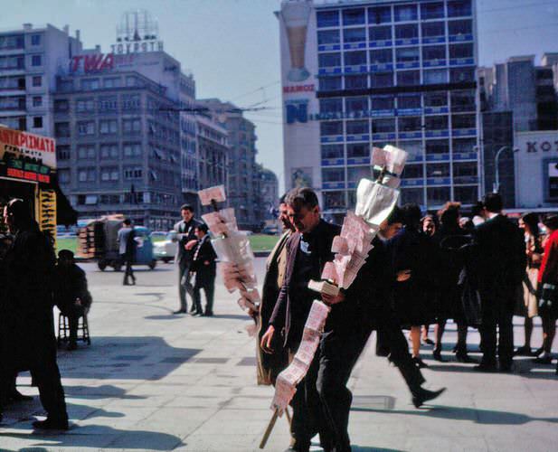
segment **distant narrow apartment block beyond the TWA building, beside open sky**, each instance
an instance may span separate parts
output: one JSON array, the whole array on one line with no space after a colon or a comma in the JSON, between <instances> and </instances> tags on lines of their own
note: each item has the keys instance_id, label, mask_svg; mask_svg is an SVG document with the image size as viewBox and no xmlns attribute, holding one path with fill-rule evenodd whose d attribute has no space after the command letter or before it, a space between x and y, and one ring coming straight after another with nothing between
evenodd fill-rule
<instances>
[{"instance_id":1,"label":"distant narrow apartment block beyond the TWA building, beside open sky","mask_svg":"<svg viewBox=\"0 0 558 452\"><path fill-rule=\"evenodd\" d=\"M239 228L259 228L261 219L257 178L260 174L256 166L256 127L231 102L219 99L200 99L197 102L202 108L208 108L213 120L220 122L227 130L230 146L226 172L227 198L235 209Z\"/></svg>"}]
</instances>

